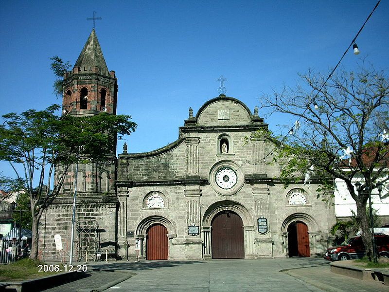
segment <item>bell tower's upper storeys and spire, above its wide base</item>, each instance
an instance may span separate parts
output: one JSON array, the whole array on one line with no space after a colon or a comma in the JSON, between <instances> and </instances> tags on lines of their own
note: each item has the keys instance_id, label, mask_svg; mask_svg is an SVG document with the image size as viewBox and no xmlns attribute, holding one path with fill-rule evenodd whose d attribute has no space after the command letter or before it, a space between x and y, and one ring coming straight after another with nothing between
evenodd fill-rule
<instances>
[{"instance_id":1,"label":"bell tower's upper storeys and spire, above its wide base","mask_svg":"<svg viewBox=\"0 0 389 292\"><path fill-rule=\"evenodd\" d=\"M74 116L97 115L100 112L116 114L118 85L115 72L108 71L94 29L72 71L65 74L62 86L64 92L63 114ZM109 153L107 161L79 164L77 193L86 192L94 197L114 196L116 165L116 145ZM71 170L73 171L73 165ZM69 191L69 189L72 192L72 184L74 184L73 180L67 180L64 192Z\"/></svg>"}]
</instances>

